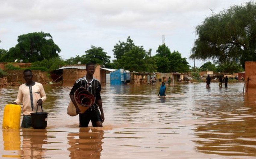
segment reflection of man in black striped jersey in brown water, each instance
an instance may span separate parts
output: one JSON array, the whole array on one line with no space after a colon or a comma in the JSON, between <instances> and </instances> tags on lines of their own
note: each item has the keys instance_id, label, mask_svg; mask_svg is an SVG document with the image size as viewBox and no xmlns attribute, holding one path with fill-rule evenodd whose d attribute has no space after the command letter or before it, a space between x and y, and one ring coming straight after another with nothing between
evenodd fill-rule
<instances>
[{"instance_id":1,"label":"reflection of man in black striped jersey in brown water","mask_svg":"<svg viewBox=\"0 0 256 159\"><path fill-rule=\"evenodd\" d=\"M104 131L97 128L80 128L79 133L67 134L71 159L100 158ZM77 138L78 137L78 138Z\"/></svg>"}]
</instances>

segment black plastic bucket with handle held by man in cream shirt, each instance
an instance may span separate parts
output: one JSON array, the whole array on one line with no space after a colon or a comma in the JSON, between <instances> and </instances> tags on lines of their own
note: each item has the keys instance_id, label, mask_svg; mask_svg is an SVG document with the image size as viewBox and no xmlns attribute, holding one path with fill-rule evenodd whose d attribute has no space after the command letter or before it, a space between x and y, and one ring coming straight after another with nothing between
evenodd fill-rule
<instances>
[{"instance_id":1,"label":"black plastic bucket with handle held by man in cream shirt","mask_svg":"<svg viewBox=\"0 0 256 159\"><path fill-rule=\"evenodd\" d=\"M36 108L36 113L31 114L32 127L34 129L45 129L47 126L47 115L48 113L43 112L43 108L41 105L42 112L37 112L38 106Z\"/></svg>"}]
</instances>

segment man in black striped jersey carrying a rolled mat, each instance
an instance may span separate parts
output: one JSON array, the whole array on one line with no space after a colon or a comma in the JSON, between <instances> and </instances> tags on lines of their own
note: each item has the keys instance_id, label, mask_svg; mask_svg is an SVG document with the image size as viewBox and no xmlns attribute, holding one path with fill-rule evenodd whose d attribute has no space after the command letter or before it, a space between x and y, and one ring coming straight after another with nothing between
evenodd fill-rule
<instances>
[{"instance_id":1,"label":"man in black striped jersey carrying a rolled mat","mask_svg":"<svg viewBox=\"0 0 256 159\"><path fill-rule=\"evenodd\" d=\"M76 89L80 87L86 88L92 95L95 97L95 102L92 106L87 109L84 113L79 113L79 127L88 127L89 122L92 122L93 127L102 127L102 123L104 122L104 113L101 102L101 84L100 82L93 78L93 74L95 72L95 64L87 63L86 64L86 76L81 77L76 80L71 91L70 91L70 99L76 107L76 113L79 113L80 110L75 102L74 93ZM99 112L99 110L100 112Z\"/></svg>"}]
</instances>

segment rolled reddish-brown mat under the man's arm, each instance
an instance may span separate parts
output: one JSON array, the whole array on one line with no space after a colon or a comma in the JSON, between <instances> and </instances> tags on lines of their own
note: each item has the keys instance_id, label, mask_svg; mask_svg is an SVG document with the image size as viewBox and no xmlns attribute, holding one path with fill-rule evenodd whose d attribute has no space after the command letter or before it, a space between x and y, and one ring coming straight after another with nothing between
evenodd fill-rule
<instances>
[{"instance_id":1,"label":"rolled reddish-brown mat under the man's arm","mask_svg":"<svg viewBox=\"0 0 256 159\"><path fill-rule=\"evenodd\" d=\"M89 91L87 91L86 88L84 87L80 87L76 89L74 98L80 110L80 113L84 113L95 102L94 96ZM70 101L68 105L67 114L70 116L77 115L76 108L72 103L72 101Z\"/></svg>"}]
</instances>

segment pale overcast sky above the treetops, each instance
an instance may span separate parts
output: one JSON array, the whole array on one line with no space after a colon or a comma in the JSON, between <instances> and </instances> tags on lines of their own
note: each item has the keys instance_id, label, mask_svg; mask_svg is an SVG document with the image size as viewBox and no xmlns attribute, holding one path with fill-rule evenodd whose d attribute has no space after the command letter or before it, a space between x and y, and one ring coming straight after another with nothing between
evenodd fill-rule
<instances>
[{"instance_id":1,"label":"pale overcast sky above the treetops","mask_svg":"<svg viewBox=\"0 0 256 159\"><path fill-rule=\"evenodd\" d=\"M118 41L131 37L134 44L152 49L159 45L189 55L195 27L214 13L245 0L0 0L0 48L17 44L19 35L50 33L62 58L83 55L91 45L102 47L114 59ZM199 66L207 61L195 61Z\"/></svg>"}]
</instances>

